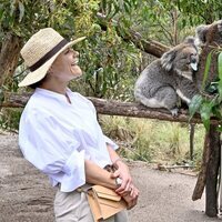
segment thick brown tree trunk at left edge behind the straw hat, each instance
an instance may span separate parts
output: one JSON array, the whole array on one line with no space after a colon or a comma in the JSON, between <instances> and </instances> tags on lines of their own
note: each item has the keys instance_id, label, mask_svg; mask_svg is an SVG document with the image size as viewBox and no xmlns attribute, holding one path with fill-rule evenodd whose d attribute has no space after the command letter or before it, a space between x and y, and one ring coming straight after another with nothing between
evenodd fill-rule
<instances>
[{"instance_id":1,"label":"thick brown tree trunk at left edge behind the straw hat","mask_svg":"<svg viewBox=\"0 0 222 222\"><path fill-rule=\"evenodd\" d=\"M0 52L0 87L3 84L6 78L12 75L14 72L19 60L21 44L21 38L10 32L6 36Z\"/></svg>"}]
</instances>

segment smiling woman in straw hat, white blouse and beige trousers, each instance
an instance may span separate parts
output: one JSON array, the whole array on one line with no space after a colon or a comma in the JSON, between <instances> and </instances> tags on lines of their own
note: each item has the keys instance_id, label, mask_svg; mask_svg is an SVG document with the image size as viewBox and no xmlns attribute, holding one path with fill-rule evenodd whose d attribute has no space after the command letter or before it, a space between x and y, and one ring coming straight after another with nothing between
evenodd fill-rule
<instances>
[{"instance_id":1,"label":"smiling woman in straw hat, white blouse and beige trousers","mask_svg":"<svg viewBox=\"0 0 222 222\"><path fill-rule=\"evenodd\" d=\"M115 190L131 209L139 191L128 167L114 151L97 121L93 104L68 89L80 77L77 51L57 31L46 28L33 34L21 50L30 73L19 87L34 88L20 120L19 144L24 158L58 186L54 200L57 221L93 221L85 193L78 188L99 184ZM105 165L118 170L110 173ZM108 220L107 220L108 221ZM124 211L109 221L128 221Z\"/></svg>"}]
</instances>

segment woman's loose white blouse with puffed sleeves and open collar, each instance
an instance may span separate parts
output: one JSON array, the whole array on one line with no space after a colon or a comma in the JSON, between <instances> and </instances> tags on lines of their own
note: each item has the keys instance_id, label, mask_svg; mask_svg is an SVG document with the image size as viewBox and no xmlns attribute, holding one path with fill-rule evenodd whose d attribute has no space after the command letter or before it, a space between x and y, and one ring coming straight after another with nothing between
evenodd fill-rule
<instances>
[{"instance_id":1,"label":"woman's loose white blouse with puffed sleeves and open collar","mask_svg":"<svg viewBox=\"0 0 222 222\"><path fill-rule=\"evenodd\" d=\"M37 88L19 127L19 147L24 158L46 173L51 184L71 192L85 183L84 160L101 168L110 164L107 149L118 145L105 137L93 104L67 89L65 95Z\"/></svg>"}]
</instances>

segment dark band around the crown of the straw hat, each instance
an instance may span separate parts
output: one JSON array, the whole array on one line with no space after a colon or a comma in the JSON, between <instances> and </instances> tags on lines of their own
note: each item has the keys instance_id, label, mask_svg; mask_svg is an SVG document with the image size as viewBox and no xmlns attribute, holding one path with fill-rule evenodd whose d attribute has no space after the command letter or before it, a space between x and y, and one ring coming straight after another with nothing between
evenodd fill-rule
<instances>
[{"instance_id":1,"label":"dark band around the crown of the straw hat","mask_svg":"<svg viewBox=\"0 0 222 222\"><path fill-rule=\"evenodd\" d=\"M33 63L29 69L33 72L37 69L39 69L42 64L44 64L49 59L51 59L60 49L62 49L65 44L68 44L69 41L63 39L61 42L59 42L53 49L51 49L47 54L44 54L39 61Z\"/></svg>"}]
</instances>

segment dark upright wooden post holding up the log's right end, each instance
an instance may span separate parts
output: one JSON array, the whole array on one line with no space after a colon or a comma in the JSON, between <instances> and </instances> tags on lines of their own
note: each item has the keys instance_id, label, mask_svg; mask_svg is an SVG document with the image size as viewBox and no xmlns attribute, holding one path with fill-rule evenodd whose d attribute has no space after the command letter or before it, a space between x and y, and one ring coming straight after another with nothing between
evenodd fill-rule
<instances>
[{"instance_id":1,"label":"dark upright wooden post holding up the log's right end","mask_svg":"<svg viewBox=\"0 0 222 222\"><path fill-rule=\"evenodd\" d=\"M210 159L206 168L205 181L205 214L211 218L218 215L218 178L221 157L220 134L215 125L210 127Z\"/></svg>"}]
</instances>

